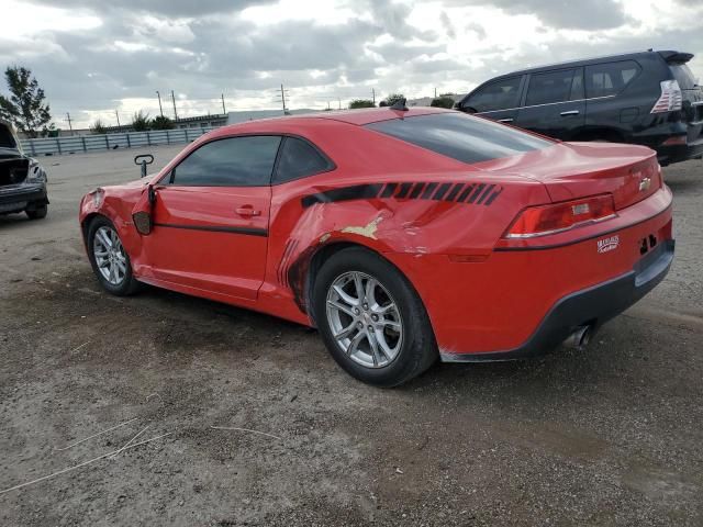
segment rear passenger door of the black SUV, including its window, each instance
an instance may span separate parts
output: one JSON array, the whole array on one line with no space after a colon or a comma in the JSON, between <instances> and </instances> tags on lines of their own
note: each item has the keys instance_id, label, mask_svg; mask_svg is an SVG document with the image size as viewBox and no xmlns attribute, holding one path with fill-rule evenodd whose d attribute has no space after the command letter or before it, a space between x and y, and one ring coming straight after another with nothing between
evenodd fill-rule
<instances>
[{"instance_id":1,"label":"rear passenger door of the black SUV, including its window","mask_svg":"<svg viewBox=\"0 0 703 527\"><path fill-rule=\"evenodd\" d=\"M515 123L556 139L569 141L585 123L583 68L532 74Z\"/></svg>"}]
</instances>

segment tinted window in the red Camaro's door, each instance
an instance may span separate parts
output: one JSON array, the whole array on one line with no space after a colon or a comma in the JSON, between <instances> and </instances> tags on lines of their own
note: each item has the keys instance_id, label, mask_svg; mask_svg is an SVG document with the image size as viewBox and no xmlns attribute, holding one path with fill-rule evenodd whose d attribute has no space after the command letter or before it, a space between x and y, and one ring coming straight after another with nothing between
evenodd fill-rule
<instances>
[{"instance_id":1,"label":"tinted window in the red Camaro's door","mask_svg":"<svg viewBox=\"0 0 703 527\"><path fill-rule=\"evenodd\" d=\"M264 187L281 138L276 135L227 137L205 143L174 170L170 184L180 187Z\"/></svg>"}]
</instances>

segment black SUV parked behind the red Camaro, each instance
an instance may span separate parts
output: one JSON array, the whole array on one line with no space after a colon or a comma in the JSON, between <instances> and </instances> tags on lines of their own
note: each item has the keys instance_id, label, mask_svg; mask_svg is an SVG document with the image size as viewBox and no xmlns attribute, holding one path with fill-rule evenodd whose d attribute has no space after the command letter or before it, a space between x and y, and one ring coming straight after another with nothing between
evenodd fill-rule
<instances>
[{"instance_id":1,"label":"black SUV parked behind the red Camaro","mask_svg":"<svg viewBox=\"0 0 703 527\"><path fill-rule=\"evenodd\" d=\"M635 143L659 162L703 156L703 90L690 53L648 52L524 69L482 83L464 112L562 141Z\"/></svg>"}]
</instances>

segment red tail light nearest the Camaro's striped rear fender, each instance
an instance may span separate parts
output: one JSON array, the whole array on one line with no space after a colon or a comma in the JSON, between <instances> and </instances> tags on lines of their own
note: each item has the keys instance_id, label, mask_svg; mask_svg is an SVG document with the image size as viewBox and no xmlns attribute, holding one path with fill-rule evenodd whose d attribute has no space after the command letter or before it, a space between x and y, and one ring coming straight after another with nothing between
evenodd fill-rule
<instances>
[{"instance_id":1,"label":"red tail light nearest the Camaro's striped rear fender","mask_svg":"<svg viewBox=\"0 0 703 527\"><path fill-rule=\"evenodd\" d=\"M533 238L561 233L570 228L615 216L612 194L600 194L551 205L523 210L503 237Z\"/></svg>"}]
</instances>

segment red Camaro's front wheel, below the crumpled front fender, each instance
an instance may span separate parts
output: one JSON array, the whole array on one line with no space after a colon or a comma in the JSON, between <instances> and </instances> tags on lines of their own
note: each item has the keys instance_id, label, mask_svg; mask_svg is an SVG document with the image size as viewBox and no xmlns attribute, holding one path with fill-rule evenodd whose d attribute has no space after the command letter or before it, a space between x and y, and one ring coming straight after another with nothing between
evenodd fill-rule
<instances>
[{"instance_id":1,"label":"red Camaro's front wheel, below the crumpled front fender","mask_svg":"<svg viewBox=\"0 0 703 527\"><path fill-rule=\"evenodd\" d=\"M138 282L116 228L107 217L96 217L88 226L88 256L100 284L119 296L134 293Z\"/></svg>"}]
</instances>

